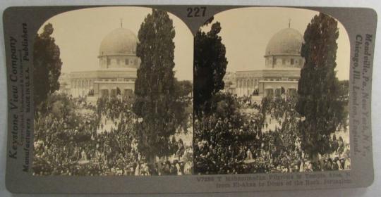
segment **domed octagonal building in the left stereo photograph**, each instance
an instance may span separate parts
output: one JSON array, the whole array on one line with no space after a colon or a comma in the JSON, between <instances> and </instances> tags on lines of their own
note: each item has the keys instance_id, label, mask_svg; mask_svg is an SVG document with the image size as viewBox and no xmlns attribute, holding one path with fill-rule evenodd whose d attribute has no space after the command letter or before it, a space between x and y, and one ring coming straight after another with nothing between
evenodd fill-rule
<instances>
[{"instance_id":1,"label":"domed octagonal building in the left stereo photograph","mask_svg":"<svg viewBox=\"0 0 381 197\"><path fill-rule=\"evenodd\" d=\"M97 70L70 73L71 96L131 96L140 66L137 44L138 37L131 30L120 27L109 32L99 46Z\"/></svg>"}]
</instances>

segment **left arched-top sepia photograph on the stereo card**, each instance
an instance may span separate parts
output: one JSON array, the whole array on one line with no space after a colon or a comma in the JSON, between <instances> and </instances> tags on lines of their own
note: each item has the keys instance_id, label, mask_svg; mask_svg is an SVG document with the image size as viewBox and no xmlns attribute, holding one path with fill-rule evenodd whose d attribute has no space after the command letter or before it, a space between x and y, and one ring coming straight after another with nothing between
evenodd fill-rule
<instances>
[{"instance_id":1,"label":"left arched-top sepia photograph on the stereo card","mask_svg":"<svg viewBox=\"0 0 381 197\"><path fill-rule=\"evenodd\" d=\"M49 18L33 47L33 175L192 173L193 35L183 21L85 8Z\"/></svg>"}]
</instances>

